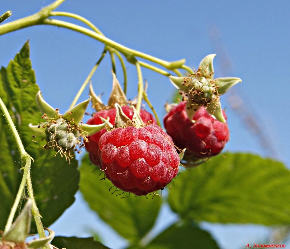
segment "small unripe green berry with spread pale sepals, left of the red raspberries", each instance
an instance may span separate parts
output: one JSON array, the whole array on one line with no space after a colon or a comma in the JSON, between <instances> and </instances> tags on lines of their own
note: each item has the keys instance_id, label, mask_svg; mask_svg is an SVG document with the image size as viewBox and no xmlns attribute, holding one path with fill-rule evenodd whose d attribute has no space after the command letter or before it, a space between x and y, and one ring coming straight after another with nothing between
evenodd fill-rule
<instances>
[{"instance_id":1,"label":"small unripe green berry with spread pale sepals, left of the red raspberries","mask_svg":"<svg viewBox=\"0 0 290 249\"><path fill-rule=\"evenodd\" d=\"M60 114L58 109L54 109L47 104L40 91L36 95L36 102L40 111L44 113L41 117L44 122L38 125L30 124L29 127L38 132L38 135L45 134L46 144L43 146L44 149L52 148L68 161L73 158L74 151L81 151L84 146L83 141L87 141L87 136L100 131L108 123L107 120L99 125L82 124L81 120L90 98L64 114Z\"/></svg>"}]
</instances>

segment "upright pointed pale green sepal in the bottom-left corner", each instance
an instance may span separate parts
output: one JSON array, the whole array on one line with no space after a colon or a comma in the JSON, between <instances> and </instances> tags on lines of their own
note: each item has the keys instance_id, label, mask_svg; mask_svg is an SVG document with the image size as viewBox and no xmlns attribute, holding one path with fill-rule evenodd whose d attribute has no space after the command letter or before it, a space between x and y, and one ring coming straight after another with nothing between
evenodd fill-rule
<instances>
[{"instance_id":1,"label":"upright pointed pale green sepal in the bottom-left corner","mask_svg":"<svg viewBox=\"0 0 290 249\"><path fill-rule=\"evenodd\" d=\"M21 210L21 213L13 222L7 232L3 233L3 239L16 243L25 242L28 233L30 232L31 225L31 206L32 202L29 198L25 203L25 206Z\"/></svg>"}]
</instances>

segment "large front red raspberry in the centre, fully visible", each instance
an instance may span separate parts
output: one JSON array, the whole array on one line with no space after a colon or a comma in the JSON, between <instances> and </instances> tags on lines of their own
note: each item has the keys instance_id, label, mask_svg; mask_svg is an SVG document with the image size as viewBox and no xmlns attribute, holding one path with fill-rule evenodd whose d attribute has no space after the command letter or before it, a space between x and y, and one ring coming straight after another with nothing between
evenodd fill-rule
<instances>
[{"instance_id":1,"label":"large front red raspberry in the centre, fully visible","mask_svg":"<svg viewBox=\"0 0 290 249\"><path fill-rule=\"evenodd\" d=\"M165 187L179 167L171 137L154 124L104 133L99 140L99 155L106 177L117 188L137 196Z\"/></svg>"}]
</instances>

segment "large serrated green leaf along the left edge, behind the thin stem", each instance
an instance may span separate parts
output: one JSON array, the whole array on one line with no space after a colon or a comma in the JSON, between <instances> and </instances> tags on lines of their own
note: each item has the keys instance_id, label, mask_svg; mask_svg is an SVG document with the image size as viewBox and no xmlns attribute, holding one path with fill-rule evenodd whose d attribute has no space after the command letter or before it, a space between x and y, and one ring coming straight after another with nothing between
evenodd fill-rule
<instances>
[{"instance_id":1,"label":"large serrated green leaf along the left edge, behind the thin stem","mask_svg":"<svg viewBox=\"0 0 290 249\"><path fill-rule=\"evenodd\" d=\"M35 160L31 165L35 199L44 226L49 226L73 203L79 172L75 160L68 164L60 156L54 157L55 151L44 151L40 143L32 142L35 134L28 124L39 123L42 114L35 100L39 87L31 69L28 42L7 69L1 68L0 90L25 150ZM0 115L0 135L0 229L3 229L21 181L19 155L3 115ZM41 140L41 136L35 139ZM32 226L31 232L35 231L35 226Z\"/></svg>"}]
</instances>

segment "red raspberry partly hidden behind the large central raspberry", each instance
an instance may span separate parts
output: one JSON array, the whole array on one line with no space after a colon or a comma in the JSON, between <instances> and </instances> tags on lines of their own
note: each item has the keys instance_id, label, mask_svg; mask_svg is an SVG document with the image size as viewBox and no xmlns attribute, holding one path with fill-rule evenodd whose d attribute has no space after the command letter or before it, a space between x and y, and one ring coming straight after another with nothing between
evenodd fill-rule
<instances>
[{"instance_id":1,"label":"red raspberry partly hidden behind the large central raspberry","mask_svg":"<svg viewBox=\"0 0 290 249\"><path fill-rule=\"evenodd\" d=\"M122 111L126 114L126 116L130 119L133 118L133 109L130 108L127 105L122 106ZM116 117L116 109L115 108L111 108L109 110L102 110L99 111L97 113L95 113L94 117L90 118L87 122L87 124L90 125L96 125L96 124L102 124L103 121L99 118L105 118L107 119L107 117L110 118L109 122L112 125L115 125L115 117ZM153 116L151 115L151 113L145 111L145 110L140 110L140 117L143 120L143 122L146 124L148 122L150 122L151 124L156 124L156 120L153 118ZM85 148L86 150L89 152L89 156L90 156L90 160L93 164L95 165L100 165L100 159L99 159L99 139L100 137L106 132L106 129L103 129L101 131L99 131L98 133L89 136L89 142L85 143Z\"/></svg>"}]
</instances>

